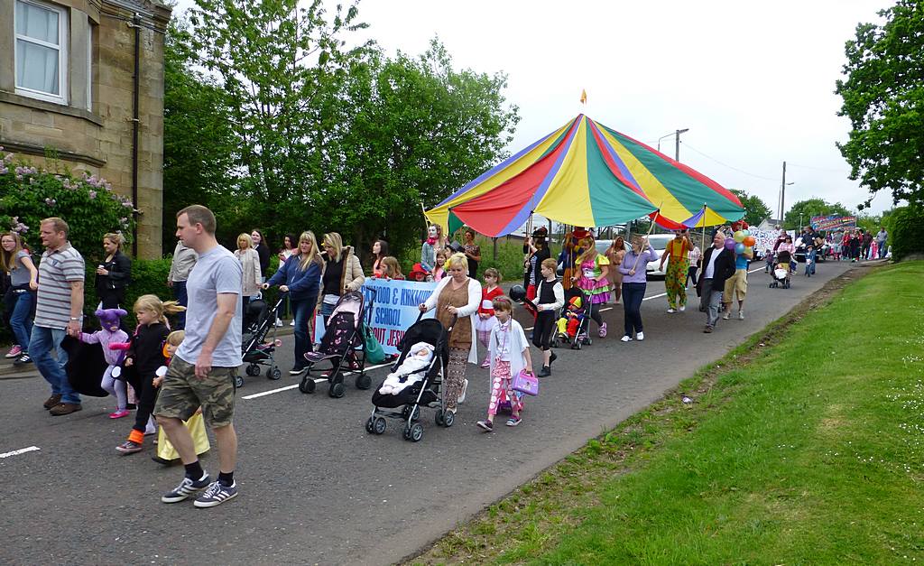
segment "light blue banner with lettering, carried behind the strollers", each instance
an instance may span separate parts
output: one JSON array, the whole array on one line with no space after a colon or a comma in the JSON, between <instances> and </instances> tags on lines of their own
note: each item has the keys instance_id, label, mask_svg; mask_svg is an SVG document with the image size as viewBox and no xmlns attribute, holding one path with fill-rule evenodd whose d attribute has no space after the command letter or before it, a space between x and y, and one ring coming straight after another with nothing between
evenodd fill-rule
<instances>
[{"instance_id":1,"label":"light blue banner with lettering, carried behind the strollers","mask_svg":"<svg viewBox=\"0 0 924 566\"><path fill-rule=\"evenodd\" d=\"M371 321L368 316L365 320L386 354L398 353L398 342L404 337L407 327L413 325L420 314L418 305L430 297L433 289L436 289L436 282L433 281L366 279L362 293L366 297L366 307L372 305L372 314ZM433 311L423 316L432 318ZM324 323L320 314L315 318L314 327L314 339L321 342Z\"/></svg>"}]
</instances>

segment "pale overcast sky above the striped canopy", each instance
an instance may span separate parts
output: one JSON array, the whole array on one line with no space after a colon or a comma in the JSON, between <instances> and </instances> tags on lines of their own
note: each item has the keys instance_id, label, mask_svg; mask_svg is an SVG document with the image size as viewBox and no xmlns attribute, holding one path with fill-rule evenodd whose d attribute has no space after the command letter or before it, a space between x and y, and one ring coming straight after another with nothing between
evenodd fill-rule
<instances>
[{"instance_id":1,"label":"pale overcast sky above the striped canopy","mask_svg":"<svg viewBox=\"0 0 924 566\"><path fill-rule=\"evenodd\" d=\"M177 10L191 6L180 0ZM656 146L681 135L680 160L777 210L821 197L854 209L868 196L834 142L846 118L834 81L859 22L888 0L604 2L365 0L359 17L388 53L417 55L439 36L456 68L508 75L522 118L508 148L585 112ZM581 89L588 104L578 101ZM674 154L673 135L662 141ZM879 194L873 213L891 207Z\"/></svg>"}]
</instances>

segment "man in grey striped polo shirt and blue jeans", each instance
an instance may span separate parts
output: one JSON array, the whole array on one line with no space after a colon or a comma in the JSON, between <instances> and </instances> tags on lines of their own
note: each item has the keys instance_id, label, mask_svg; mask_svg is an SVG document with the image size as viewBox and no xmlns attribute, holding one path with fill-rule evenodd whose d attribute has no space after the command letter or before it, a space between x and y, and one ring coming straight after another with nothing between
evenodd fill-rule
<instances>
[{"instance_id":1,"label":"man in grey striped polo shirt and blue jeans","mask_svg":"<svg viewBox=\"0 0 924 566\"><path fill-rule=\"evenodd\" d=\"M79 336L83 322L83 256L67 241L67 222L45 218L39 235L45 252L39 263L39 291L29 353L35 367L52 385L44 408L55 416L79 411L80 396L70 387L64 366L67 352L61 348L65 335ZM52 357L55 351L57 359Z\"/></svg>"}]
</instances>

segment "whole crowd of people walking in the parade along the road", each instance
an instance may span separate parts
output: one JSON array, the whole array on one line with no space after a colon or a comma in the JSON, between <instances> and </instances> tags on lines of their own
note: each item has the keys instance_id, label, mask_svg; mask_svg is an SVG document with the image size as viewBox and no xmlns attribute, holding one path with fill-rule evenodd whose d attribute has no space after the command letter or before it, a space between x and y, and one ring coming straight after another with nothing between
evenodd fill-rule
<instances>
[{"instance_id":1,"label":"whole crowd of people walking in the parade along the road","mask_svg":"<svg viewBox=\"0 0 924 566\"><path fill-rule=\"evenodd\" d=\"M171 301L143 295L129 305L132 263L123 252L125 239L118 233L103 235L94 280L98 304L91 305L101 326L95 332L85 331L85 262L68 241L67 222L57 217L42 221L44 251L37 265L17 233L4 234L0 266L9 277L5 314L18 342L6 357L15 358L18 365L35 364L50 387L44 408L63 416L82 409L79 392L67 377L66 337L103 345L107 368L98 385L116 399L115 411L108 416L120 419L136 411L128 438L116 449L123 454L141 451L144 437L155 432L159 424L184 465L182 481L162 501L196 498L196 506L211 507L237 496L233 415L244 313L249 302L267 289L283 293L295 335L295 362L289 373L300 375L307 370L306 354L313 349L315 314L321 315L326 326L334 306L346 293L363 286L366 273L359 254L336 232L323 234L320 245L310 230L298 238L286 234L277 252L279 268L266 278L271 252L261 230L239 234L237 247L230 252L216 240L214 215L202 206L179 211L176 227L178 241L166 278L173 292ZM419 311L433 311L450 330L444 411L453 418L458 403L466 398L468 364L480 363L489 370L491 380L487 416L478 423L487 432L493 431L502 402L511 407L506 424L520 424L523 396L512 388L512 381L522 371L533 371L530 342L541 352L538 376L553 375L557 356L552 346L556 338L570 331L565 324L569 314L581 313L587 318L586 325L577 325L577 342L589 341L590 321L597 337L606 338L608 327L602 307L612 301L623 308L624 331L619 341L645 339L641 305L650 264L665 273L667 314L687 310L687 289L692 281L699 295L699 311L706 316L703 332L713 332L720 318L728 319L735 312L737 319L745 318L748 263L753 253L731 241L730 230L716 229L711 245L700 250L687 229L680 228L659 253L639 234L633 235L628 245L619 237L600 252L590 230L574 228L553 258L548 233L540 228L523 245L522 294L535 317L528 339L514 320L516 303L501 287L502 274L495 268L483 269L482 284L482 256L475 232L466 228L462 234L465 243L454 247L442 228L429 228L420 247L419 263L410 273L436 282L429 297L419 304ZM862 230L822 236L808 228L799 234L798 243L806 253L807 276L814 274L814 254L825 245L831 246L834 259L857 261L888 253L884 228L875 236ZM796 249L792 236L781 233L767 251L768 271L777 265L774 262L785 261L788 266ZM397 258L390 255L387 241L375 240L369 257L371 277L405 277ZM135 328L127 327L128 313L137 317ZM479 347L484 351L483 359ZM348 357L346 363L359 368L357 358ZM128 375L120 378L116 370L128 370ZM332 372L336 371L334 367ZM325 376L329 375L331 372ZM202 468L197 442L188 429L196 414L213 429L218 444L219 474L214 481Z\"/></svg>"}]
</instances>

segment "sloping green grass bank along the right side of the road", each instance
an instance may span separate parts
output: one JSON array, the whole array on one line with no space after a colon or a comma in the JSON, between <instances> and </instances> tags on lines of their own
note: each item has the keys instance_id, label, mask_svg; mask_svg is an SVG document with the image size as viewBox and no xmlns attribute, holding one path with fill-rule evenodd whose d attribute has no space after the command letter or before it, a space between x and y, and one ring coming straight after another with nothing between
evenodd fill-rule
<instances>
[{"instance_id":1,"label":"sloping green grass bank along the right side of the road","mask_svg":"<svg viewBox=\"0 0 924 566\"><path fill-rule=\"evenodd\" d=\"M924 561L922 281L816 296L412 562Z\"/></svg>"}]
</instances>

